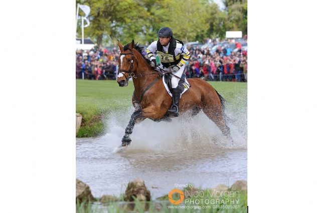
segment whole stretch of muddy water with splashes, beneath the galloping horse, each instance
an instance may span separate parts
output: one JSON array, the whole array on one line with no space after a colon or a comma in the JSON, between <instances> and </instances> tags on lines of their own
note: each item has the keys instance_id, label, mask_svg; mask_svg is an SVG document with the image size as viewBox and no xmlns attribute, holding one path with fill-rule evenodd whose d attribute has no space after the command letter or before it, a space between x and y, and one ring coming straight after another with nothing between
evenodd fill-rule
<instances>
[{"instance_id":1,"label":"whole stretch of muddy water with splashes, beneath the galloping horse","mask_svg":"<svg viewBox=\"0 0 321 213\"><path fill-rule=\"evenodd\" d=\"M145 181L153 198L167 194L175 184L214 188L247 179L246 116L238 115L229 124L233 142L203 112L170 123L145 120L134 127L131 145L114 153L131 113L129 109L109 115L102 137L76 140L76 177L95 197L119 196L135 178Z\"/></svg>"}]
</instances>

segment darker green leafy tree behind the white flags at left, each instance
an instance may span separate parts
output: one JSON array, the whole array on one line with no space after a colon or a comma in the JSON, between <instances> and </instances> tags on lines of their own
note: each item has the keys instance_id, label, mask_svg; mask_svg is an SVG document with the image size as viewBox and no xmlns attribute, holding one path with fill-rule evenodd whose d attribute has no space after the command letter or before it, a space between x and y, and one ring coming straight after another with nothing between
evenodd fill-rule
<instances>
[{"instance_id":1,"label":"darker green leafy tree behind the white flags at left","mask_svg":"<svg viewBox=\"0 0 321 213\"><path fill-rule=\"evenodd\" d=\"M143 21L148 13L133 0L76 0L76 3L90 7L90 26L84 31L85 35L94 37L99 46L106 42L103 41L106 35L114 40L129 41L149 23Z\"/></svg>"}]
</instances>

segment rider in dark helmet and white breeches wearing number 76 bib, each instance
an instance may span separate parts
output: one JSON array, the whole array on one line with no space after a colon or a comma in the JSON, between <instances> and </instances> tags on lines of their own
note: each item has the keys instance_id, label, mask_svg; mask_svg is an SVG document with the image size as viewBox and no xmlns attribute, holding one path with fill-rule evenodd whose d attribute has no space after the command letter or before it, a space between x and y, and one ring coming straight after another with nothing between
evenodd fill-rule
<instances>
[{"instance_id":1,"label":"rider in dark helmet and white breeches wearing number 76 bib","mask_svg":"<svg viewBox=\"0 0 321 213\"><path fill-rule=\"evenodd\" d=\"M173 71L172 74L172 88L174 103L169 109L169 112L174 116L179 116L179 104L181 98L181 89L179 87L179 81L185 69L185 63L189 60L191 54L184 47L184 43L173 37L173 31L169 27L161 28L158 33L158 40L152 42L146 49L147 56L151 61L151 67L156 67L156 58L153 53L157 53L159 59L161 59L161 65L159 68L165 71Z\"/></svg>"}]
</instances>

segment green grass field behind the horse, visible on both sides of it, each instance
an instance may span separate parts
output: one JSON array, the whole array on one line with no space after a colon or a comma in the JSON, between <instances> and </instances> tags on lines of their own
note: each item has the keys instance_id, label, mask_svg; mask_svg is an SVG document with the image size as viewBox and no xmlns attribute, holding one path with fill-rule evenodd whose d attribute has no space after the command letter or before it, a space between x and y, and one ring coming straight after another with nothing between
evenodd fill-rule
<instances>
[{"instance_id":1,"label":"green grass field behind the horse, visible on both sides of it","mask_svg":"<svg viewBox=\"0 0 321 213\"><path fill-rule=\"evenodd\" d=\"M247 83L208 82L232 105L247 104ZM82 115L77 137L103 134L107 128L103 122L105 116L113 110L126 110L132 106L133 90L132 81L127 87L119 87L112 80L76 80L76 113Z\"/></svg>"}]
</instances>

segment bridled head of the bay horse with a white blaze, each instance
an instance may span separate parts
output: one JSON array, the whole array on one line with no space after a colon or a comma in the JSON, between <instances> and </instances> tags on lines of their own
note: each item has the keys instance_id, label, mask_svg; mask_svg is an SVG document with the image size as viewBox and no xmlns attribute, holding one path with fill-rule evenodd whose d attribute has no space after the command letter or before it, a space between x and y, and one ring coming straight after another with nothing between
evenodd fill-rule
<instances>
[{"instance_id":1,"label":"bridled head of the bay horse with a white blaze","mask_svg":"<svg viewBox=\"0 0 321 213\"><path fill-rule=\"evenodd\" d=\"M117 40L118 41L118 40ZM125 48L118 41L118 47L120 49L120 56L118 59L118 76L117 83L120 87L128 86L128 80L134 76L134 72L137 69L137 62L134 58L134 40L131 41L128 48ZM125 46L126 47L126 46Z\"/></svg>"}]
</instances>

